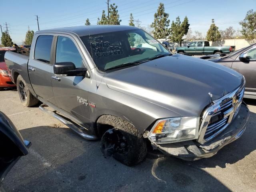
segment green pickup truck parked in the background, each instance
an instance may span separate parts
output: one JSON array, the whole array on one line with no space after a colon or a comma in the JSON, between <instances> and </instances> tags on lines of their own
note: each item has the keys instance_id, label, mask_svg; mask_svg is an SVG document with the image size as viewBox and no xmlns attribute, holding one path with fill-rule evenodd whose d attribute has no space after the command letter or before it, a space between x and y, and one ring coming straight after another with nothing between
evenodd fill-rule
<instances>
[{"instance_id":1,"label":"green pickup truck parked in the background","mask_svg":"<svg viewBox=\"0 0 256 192\"><path fill-rule=\"evenodd\" d=\"M176 48L176 52L182 55L209 55L228 54L234 52L236 46L210 46L208 41L193 41L188 46Z\"/></svg>"}]
</instances>

